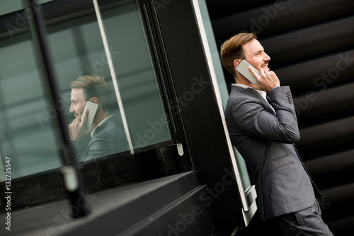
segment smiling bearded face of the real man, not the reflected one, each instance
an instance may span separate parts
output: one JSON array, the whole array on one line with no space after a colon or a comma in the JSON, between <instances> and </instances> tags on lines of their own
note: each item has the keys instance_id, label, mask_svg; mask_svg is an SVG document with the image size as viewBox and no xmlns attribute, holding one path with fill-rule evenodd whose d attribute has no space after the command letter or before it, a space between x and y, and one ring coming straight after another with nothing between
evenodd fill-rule
<instances>
[{"instance_id":1,"label":"smiling bearded face of the real man, not the reflected one","mask_svg":"<svg viewBox=\"0 0 354 236\"><path fill-rule=\"evenodd\" d=\"M246 61L253 65L253 67L258 69L258 71L261 71L261 68L268 68L270 57L264 52L264 48L258 40L253 39L245 43L242 47Z\"/></svg>"}]
</instances>

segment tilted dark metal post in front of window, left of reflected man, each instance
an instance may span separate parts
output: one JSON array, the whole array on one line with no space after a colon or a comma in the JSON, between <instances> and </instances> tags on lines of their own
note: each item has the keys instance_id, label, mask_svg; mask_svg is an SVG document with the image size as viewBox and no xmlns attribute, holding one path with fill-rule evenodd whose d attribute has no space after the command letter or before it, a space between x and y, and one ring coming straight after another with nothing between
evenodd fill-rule
<instances>
[{"instance_id":1,"label":"tilted dark metal post in front of window, left of reflected man","mask_svg":"<svg viewBox=\"0 0 354 236\"><path fill-rule=\"evenodd\" d=\"M57 116L52 119L55 129L55 137L59 145L62 158L62 174L72 209L72 217L78 218L88 215L89 204L86 200L84 187L81 180L81 172L77 168L74 147L70 141L68 125L62 109L57 108L55 101L60 100L57 79L50 57L45 33L44 18L42 17L42 6L37 0L23 0L25 11L30 23L30 32L35 46L38 67L40 68L42 86L46 94L47 102L55 108Z\"/></svg>"}]
</instances>

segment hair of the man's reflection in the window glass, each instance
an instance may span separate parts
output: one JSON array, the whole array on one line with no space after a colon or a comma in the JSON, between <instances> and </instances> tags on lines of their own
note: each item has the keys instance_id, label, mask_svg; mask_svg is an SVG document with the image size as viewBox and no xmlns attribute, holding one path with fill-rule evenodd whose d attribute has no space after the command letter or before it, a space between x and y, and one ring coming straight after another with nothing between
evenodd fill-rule
<instances>
[{"instance_id":1,"label":"hair of the man's reflection in the window glass","mask_svg":"<svg viewBox=\"0 0 354 236\"><path fill-rule=\"evenodd\" d=\"M110 88L105 79L98 76L85 75L70 84L70 89L84 89L86 101L96 97L103 110L108 110L110 103Z\"/></svg>"}]
</instances>

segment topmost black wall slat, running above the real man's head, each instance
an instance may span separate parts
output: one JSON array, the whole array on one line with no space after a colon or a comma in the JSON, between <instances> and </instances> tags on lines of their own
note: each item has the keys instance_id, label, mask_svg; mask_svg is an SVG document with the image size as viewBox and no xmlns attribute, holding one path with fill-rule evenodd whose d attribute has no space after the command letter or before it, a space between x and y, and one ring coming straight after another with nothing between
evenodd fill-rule
<instances>
[{"instance_id":1,"label":"topmost black wall slat, running above the real man's head","mask_svg":"<svg viewBox=\"0 0 354 236\"><path fill-rule=\"evenodd\" d=\"M224 6L224 5L222 5ZM354 1L275 1L273 4L235 13L212 21L216 38L241 31L274 35L349 16ZM266 29L266 30L265 30Z\"/></svg>"}]
</instances>

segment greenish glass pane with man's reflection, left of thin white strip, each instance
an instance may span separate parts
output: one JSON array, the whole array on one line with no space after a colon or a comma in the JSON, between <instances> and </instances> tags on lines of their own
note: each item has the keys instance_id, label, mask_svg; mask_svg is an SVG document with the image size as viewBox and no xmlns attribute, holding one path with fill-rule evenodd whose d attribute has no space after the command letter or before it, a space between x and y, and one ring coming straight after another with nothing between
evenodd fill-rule
<instances>
[{"instance_id":1,"label":"greenish glass pane with man's reflection, left of thin white strip","mask_svg":"<svg viewBox=\"0 0 354 236\"><path fill-rule=\"evenodd\" d=\"M98 134L98 128L93 132L92 127L84 130L85 134L81 137L72 136L76 140L73 143L77 147L78 161L129 150L96 17L91 15L75 18L70 22L50 26L48 31L48 41L62 91L62 101L58 102L67 113L68 123L72 123L76 116L79 118L76 121L80 121L86 101L99 104L93 126L100 124L100 129L104 128L103 132ZM77 82L79 78L80 82ZM74 81L76 84L71 89ZM103 81L107 84L106 91L103 94L93 91L99 89L104 84ZM111 91L110 96L108 91ZM105 118L108 119L101 123Z\"/></svg>"}]
</instances>

